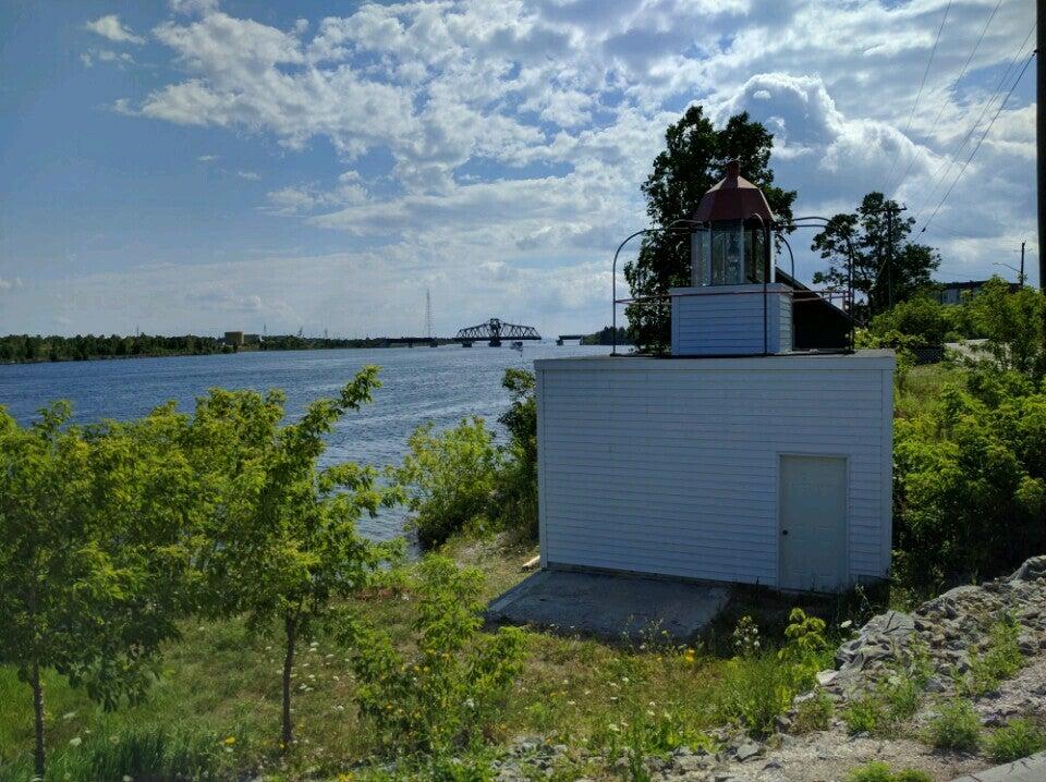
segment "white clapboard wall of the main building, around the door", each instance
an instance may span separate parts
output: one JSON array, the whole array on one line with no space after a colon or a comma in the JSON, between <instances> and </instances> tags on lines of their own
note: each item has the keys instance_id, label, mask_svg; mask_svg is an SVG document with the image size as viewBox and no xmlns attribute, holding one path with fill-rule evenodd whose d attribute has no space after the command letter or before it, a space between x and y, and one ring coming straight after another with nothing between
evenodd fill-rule
<instances>
[{"instance_id":1,"label":"white clapboard wall of the main building, around the door","mask_svg":"<svg viewBox=\"0 0 1046 782\"><path fill-rule=\"evenodd\" d=\"M543 566L776 586L780 457L823 454L847 457L850 579L887 575L893 365L535 362Z\"/></svg>"}]
</instances>

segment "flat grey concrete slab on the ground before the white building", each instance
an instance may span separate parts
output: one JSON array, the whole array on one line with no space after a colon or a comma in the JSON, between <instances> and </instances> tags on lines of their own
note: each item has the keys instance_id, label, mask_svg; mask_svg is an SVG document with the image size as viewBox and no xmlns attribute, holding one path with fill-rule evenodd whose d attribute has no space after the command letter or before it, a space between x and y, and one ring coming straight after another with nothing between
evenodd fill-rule
<instances>
[{"instance_id":1,"label":"flat grey concrete slab on the ground before the white building","mask_svg":"<svg viewBox=\"0 0 1046 782\"><path fill-rule=\"evenodd\" d=\"M538 571L491 601L487 621L620 640L665 631L689 642L730 599L730 587L628 574Z\"/></svg>"}]
</instances>

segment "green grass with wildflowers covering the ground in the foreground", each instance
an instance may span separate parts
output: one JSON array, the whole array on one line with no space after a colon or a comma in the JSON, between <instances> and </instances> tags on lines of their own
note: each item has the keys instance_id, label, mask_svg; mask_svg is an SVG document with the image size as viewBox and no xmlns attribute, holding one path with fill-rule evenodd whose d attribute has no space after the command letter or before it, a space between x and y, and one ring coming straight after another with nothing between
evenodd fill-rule
<instances>
[{"instance_id":1,"label":"green grass with wildflowers covering the ground in the foreground","mask_svg":"<svg viewBox=\"0 0 1046 782\"><path fill-rule=\"evenodd\" d=\"M485 597L492 598L526 575L520 566L535 549L506 549L503 539L488 538L451 541L448 552L485 572ZM497 747L515 736L546 735L579 749L620 748L627 754L632 745L657 754L683 745L708 748L705 731L723 721L756 733L768 731L788 705L773 686L783 680L776 646L786 606L790 603L782 598L734 604L739 612L783 618L761 624L764 648L740 663L730 662L732 649L718 647L715 638L707 646L679 646L656 628L637 628L615 644L530 631L525 668L487 738ZM415 606L409 594L387 589L353 607L388 630L394 643L413 643ZM759 614L761 607L767 613ZM808 602L805 608L836 625L843 615L836 602ZM166 649L162 675L146 699L112 713L61 677L46 679L49 781L64 780L66 771L74 780L119 780L124 774L162 780L178 772L221 779L337 779L361 760L378 759L377 737L356 713L348 655L330 638L321 635L297 658L293 719L299 741L283 763L278 752L279 637L253 636L241 622L194 622L185 624L182 634ZM302 684L308 689L299 689ZM0 782L25 780L32 760L32 702L29 688L10 670L0 669ZM612 762L620 755L607 752L606 757ZM159 775L143 777L144 766ZM419 778L439 775L436 767L423 766ZM586 773L598 778L617 772L595 768Z\"/></svg>"}]
</instances>

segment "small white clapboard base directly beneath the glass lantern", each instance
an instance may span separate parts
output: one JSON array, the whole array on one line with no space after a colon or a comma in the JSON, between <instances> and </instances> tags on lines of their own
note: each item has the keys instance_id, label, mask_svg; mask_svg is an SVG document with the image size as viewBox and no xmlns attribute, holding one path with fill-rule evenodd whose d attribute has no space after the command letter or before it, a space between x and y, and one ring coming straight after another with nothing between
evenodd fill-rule
<instances>
[{"instance_id":1,"label":"small white clapboard base directly beneath the glass lantern","mask_svg":"<svg viewBox=\"0 0 1046 782\"><path fill-rule=\"evenodd\" d=\"M775 282L765 286L671 289L672 355L757 355L791 351L791 289Z\"/></svg>"}]
</instances>

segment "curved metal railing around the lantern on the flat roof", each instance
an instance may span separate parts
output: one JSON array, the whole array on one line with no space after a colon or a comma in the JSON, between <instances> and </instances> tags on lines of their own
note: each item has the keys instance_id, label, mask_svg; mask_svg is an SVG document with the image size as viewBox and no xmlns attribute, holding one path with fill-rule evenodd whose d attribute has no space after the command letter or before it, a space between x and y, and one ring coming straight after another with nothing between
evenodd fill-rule
<instances>
[{"instance_id":1,"label":"curved metal railing around the lantern on the flat roof","mask_svg":"<svg viewBox=\"0 0 1046 782\"><path fill-rule=\"evenodd\" d=\"M781 224L768 224L763 221L759 215L753 215L752 218L753 219L757 218L759 220L767 246L770 241L770 230L773 229L776 232L776 237L779 239L788 249L788 254L791 257L792 279L794 279L795 277L795 258L792 255L791 245L789 245L788 241L783 236L784 232L792 231L794 229L800 229L800 228L823 228L825 224L828 223L827 218L819 217L816 215L795 218L789 223L781 223ZM611 286L612 286L612 301L613 301L611 328L613 333L613 342L612 342L610 355L620 355L618 353L618 339L617 339L619 305L650 304L650 305L657 306L657 305L667 304L669 300L672 297L670 294L664 293L664 294L656 294L656 295L649 295L649 296L630 296L627 298L618 298L618 258L621 255L621 251L624 248L624 246L636 236L643 236L648 234L659 234L659 233L693 234L695 231L708 231L708 230L709 230L709 227L707 223L702 223L696 220L680 219L671 222L665 228L649 228L649 229L644 229L642 231L636 231L635 233L632 233L629 236L627 236L624 241L622 241L621 244L618 245L618 248L613 253L613 266L611 271ZM854 326L855 326L854 315L853 315L853 300L854 300L853 257L854 257L854 254L853 254L853 245L851 244L849 237L847 237L847 255L848 255L847 286L844 289L823 289L823 290L803 289L803 290L790 290L787 293L792 297L793 304L828 302L832 306L839 306L840 310L843 311L849 317L849 338L848 338L849 346L846 350L847 352L852 353L853 346L854 346ZM707 286L704 286L704 290L702 293L677 293L674 295L677 297L692 296L692 295L730 295L730 296L762 295L763 296L763 345L764 345L764 354L767 354L768 353L767 351L767 345L768 345L767 297L770 293L769 290L767 289L767 284L773 281L768 278L771 278L774 276L774 269L775 269L773 261L770 262L769 266L770 268L768 270L768 273L764 273L763 280L761 282L755 283L756 285L759 285L759 288L757 289L753 289L750 291L737 291L737 290L715 291L715 288L716 288L715 285L707 285ZM775 295L779 295L779 294L780 292L775 293ZM837 302L838 302L838 305L836 304Z\"/></svg>"}]
</instances>

